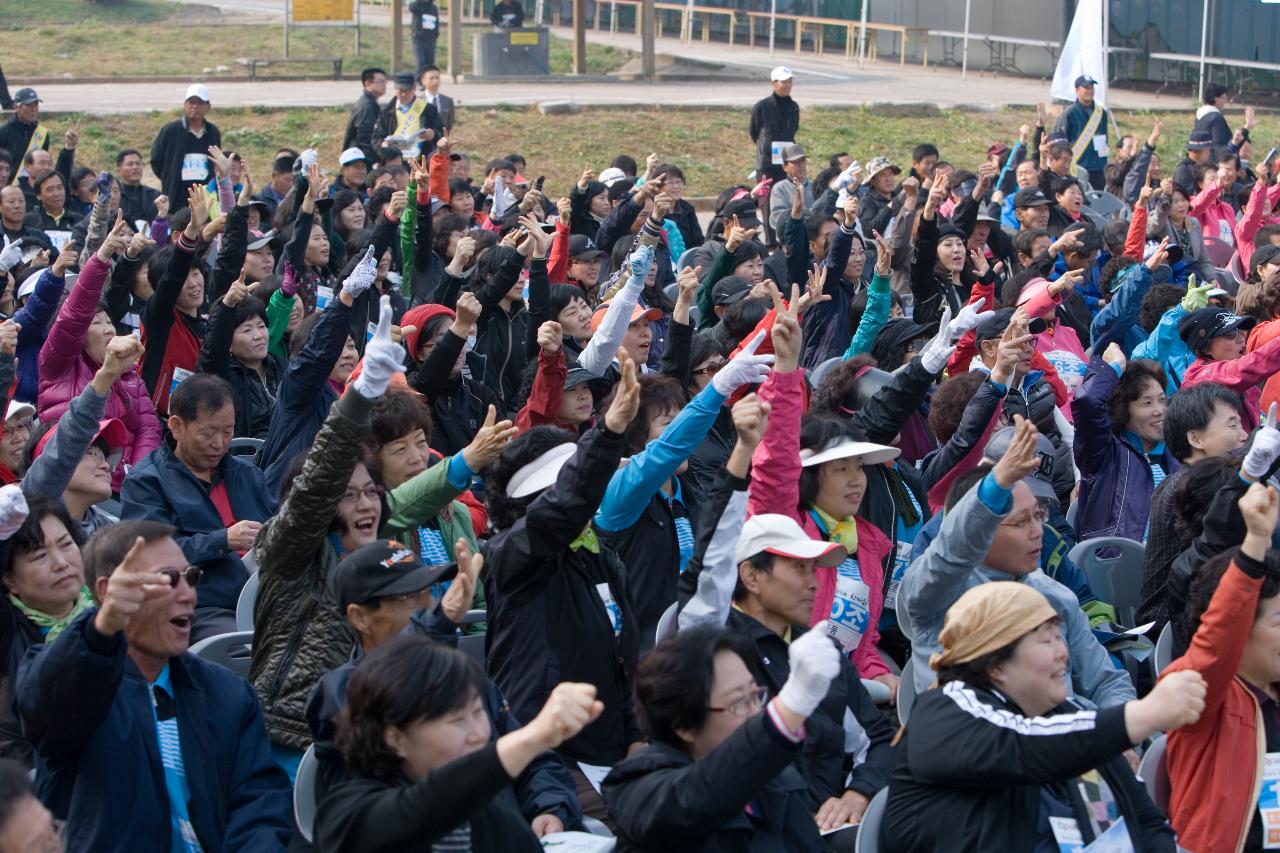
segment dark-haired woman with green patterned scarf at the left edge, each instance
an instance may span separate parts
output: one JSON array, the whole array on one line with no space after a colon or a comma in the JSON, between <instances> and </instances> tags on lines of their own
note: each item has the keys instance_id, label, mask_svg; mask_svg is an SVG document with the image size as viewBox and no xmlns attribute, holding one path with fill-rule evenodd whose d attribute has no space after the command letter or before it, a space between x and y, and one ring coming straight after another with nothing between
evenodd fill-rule
<instances>
[{"instance_id":1,"label":"dark-haired woman with green patterned scarf at the left edge","mask_svg":"<svg viewBox=\"0 0 1280 853\"><path fill-rule=\"evenodd\" d=\"M52 643L77 616L93 606L84 585L81 525L56 498L28 505L17 485L0 489L0 757L28 767L31 744L13 712L14 679L27 649Z\"/></svg>"}]
</instances>

